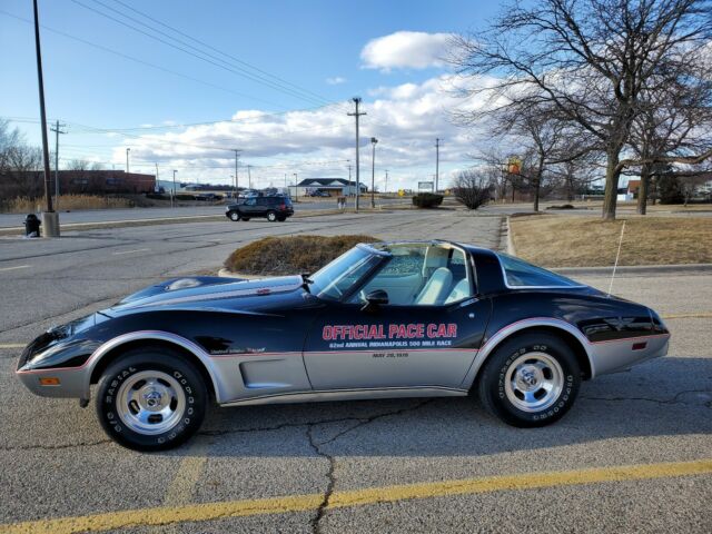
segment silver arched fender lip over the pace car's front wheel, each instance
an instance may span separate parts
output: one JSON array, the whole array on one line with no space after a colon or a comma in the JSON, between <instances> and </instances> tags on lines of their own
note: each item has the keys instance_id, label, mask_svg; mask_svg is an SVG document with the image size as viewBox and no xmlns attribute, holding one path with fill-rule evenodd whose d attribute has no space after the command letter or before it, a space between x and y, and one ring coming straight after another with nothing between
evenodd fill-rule
<instances>
[{"instance_id":1,"label":"silver arched fender lip over the pace car's front wheel","mask_svg":"<svg viewBox=\"0 0 712 534\"><path fill-rule=\"evenodd\" d=\"M89 358L89 373L85 385L85 398L89 398L91 384L97 384L103 372L122 354L142 346L169 348L194 364L202 377L208 393L219 403L220 387L209 356L195 343L164 332L136 332L123 334L102 344Z\"/></svg>"}]
</instances>

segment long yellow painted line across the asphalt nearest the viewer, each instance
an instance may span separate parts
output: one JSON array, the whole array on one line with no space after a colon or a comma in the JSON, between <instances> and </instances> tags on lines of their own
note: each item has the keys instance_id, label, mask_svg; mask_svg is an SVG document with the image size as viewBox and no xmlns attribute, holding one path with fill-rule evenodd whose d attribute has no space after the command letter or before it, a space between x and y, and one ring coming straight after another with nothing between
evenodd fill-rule
<instances>
[{"instance_id":1,"label":"long yellow painted line across the asphalt nearest the viewer","mask_svg":"<svg viewBox=\"0 0 712 534\"><path fill-rule=\"evenodd\" d=\"M672 462L661 464L637 464L587 469L523 473L505 476L485 476L455 481L402 484L366 490L335 492L328 508L365 506L397 501L431 498L453 495L473 495L506 491L534 490L555 486L576 486L605 482L646 481L674 476L712 474L712 459ZM283 497L229 501L184 506L161 506L156 508L127 510L78 517L39 520L24 523L0 525L0 534L73 534L79 532L103 532L185 522L246 517L251 515L306 512L318 508L322 494L289 495Z\"/></svg>"}]
</instances>

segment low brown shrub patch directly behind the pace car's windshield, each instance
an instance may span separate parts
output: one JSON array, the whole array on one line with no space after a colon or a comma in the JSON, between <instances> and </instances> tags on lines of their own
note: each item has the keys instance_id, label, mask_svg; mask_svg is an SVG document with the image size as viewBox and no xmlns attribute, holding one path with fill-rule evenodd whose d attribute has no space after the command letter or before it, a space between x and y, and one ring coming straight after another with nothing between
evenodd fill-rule
<instances>
[{"instance_id":1,"label":"low brown shrub patch directly behind the pace car's windshield","mask_svg":"<svg viewBox=\"0 0 712 534\"><path fill-rule=\"evenodd\" d=\"M266 237L235 250L225 267L245 275L315 273L356 244L377 240L372 236Z\"/></svg>"}]
</instances>

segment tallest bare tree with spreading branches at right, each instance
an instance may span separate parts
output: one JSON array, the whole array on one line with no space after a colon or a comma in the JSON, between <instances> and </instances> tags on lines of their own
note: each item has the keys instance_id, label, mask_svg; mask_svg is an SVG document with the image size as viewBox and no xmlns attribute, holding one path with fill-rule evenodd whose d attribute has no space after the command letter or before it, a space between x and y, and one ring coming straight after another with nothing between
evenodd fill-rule
<instances>
[{"instance_id":1,"label":"tallest bare tree with spreading branches at right","mask_svg":"<svg viewBox=\"0 0 712 534\"><path fill-rule=\"evenodd\" d=\"M669 65L698 61L712 37L706 0L537 0L505 9L482 33L454 39L465 97L484 111L552 106L597 140L606 157L603 217L615 218L622 159L643 91ZM484 83L479 80L487 78ZM688 162L710 154L688 156ZM669 157L670 158L670 157ZM656 159L657 160L657 159Z\"/></svg>"}]
</instances>

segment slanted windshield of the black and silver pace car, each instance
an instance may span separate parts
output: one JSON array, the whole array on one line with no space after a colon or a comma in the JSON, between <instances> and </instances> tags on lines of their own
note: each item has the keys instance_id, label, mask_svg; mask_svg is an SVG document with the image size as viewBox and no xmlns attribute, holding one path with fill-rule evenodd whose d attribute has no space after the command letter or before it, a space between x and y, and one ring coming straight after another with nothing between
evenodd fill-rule
<instances>
[{"instance_id":1,"label":"slanted windshield of the black and silver pace car","mask_svg":"<svg viewBox=\"0 0 712 534\"><path fill-rule=\"evenodd\" d=\"M338 300L378 265L387 253L356 246L309 277L309 289L318 297Z\"/></svg>"}]
</instances>

